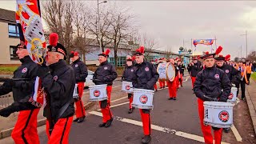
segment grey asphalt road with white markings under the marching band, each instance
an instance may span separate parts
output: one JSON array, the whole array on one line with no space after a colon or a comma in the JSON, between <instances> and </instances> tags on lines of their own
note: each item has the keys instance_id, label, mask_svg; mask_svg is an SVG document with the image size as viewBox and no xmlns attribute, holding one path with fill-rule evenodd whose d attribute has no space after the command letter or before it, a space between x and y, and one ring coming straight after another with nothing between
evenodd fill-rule
<instances>
[{"instance_id":1,"label":"grey asphalt road with white markings under the marching band","mask_svg":"<svg viewBox=\"0 0 256 144\"><path fill-rule=\"evenodd\" d=\"M250 87L246 86L246 88L248 90ZM84 90L85 98L88 98L88 93L88 90ZM249 99L247 95L249 94L246 94L246 98ZM197 98L191 90L190 78L185 76L183 87L178 89L177 101L167 100L167 98L167 88L158 90L154 94L154 110L150 113L152 124L150 143L203 143ZM102 122L102 114L98 110L99 106L96 102L94 106L86 110L85 122L74 122L71 126L70 143L119 144L141 142L143 136L141 117L138 109L135 109L132 114L127 113L129 102L127 94L121 92L121 82L114 82L111 101L111 110L114 114L113 125L109 128L98 127L98 124ZM247 102L249 101L247 100ZM222 143L256 142L248 106L246 102L239 101L239 99L234 106L234 126L231 129L230 133L223 133ZM45 126L38 127L38 134L41 143L47 143ZM8 137L1 139L1 143L9 144L13 141Z\"/></svg>"}]
</instances>

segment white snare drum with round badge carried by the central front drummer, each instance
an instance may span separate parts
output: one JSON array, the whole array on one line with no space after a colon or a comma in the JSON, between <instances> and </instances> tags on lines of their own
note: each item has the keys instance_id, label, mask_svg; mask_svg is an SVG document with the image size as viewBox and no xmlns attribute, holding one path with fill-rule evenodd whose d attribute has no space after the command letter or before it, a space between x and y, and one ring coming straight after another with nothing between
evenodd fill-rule
<instances>
[{"instance_id":1,"label":"white snare drum with round badge carried by the central front drummer","mask_svg":"<svg viewBox=\"0 0 256 144\"><path fill-rule=\"evenodd\" d=\"M131 106L139 109L153 109L154 90L134 89L134 100Z\"/></svg>"}]
</instances>

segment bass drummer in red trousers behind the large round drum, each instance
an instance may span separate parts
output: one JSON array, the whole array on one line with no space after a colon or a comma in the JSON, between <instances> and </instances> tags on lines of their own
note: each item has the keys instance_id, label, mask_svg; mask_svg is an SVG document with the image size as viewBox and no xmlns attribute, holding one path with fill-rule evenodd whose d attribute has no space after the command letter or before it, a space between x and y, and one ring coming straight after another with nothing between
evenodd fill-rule
<instances>
[{"instance_id":1,"label":"bass drummer in red trousers behind the large round drum","mask_svg":"<svg viewBox=\"0 0 256 144\"><path fill-rule=\"evenodd\" d=\"M173 82L170 82L169 80L167 81L167 86L168 86L168 90L169 90L169 97L168 98L169 100L176 100L176 97L177 97L177 85L176 85L176 82L177 82L177 75L178 75L178 70L177 70L177 67L175 66L175 62L174 62L174 59L173 58L170 58L170 63L174 65L174 68L175 68L175 78L174 78L174 81Z\"/></svg>"}]
</instances>

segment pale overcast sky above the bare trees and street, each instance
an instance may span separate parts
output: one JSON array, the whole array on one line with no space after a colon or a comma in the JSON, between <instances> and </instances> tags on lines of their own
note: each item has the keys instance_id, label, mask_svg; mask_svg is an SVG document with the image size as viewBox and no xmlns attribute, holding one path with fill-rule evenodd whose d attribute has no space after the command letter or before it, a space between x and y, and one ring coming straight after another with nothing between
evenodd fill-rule
<instances>
[{"instance_id":1,"label":"pale overcast sky above the bare trees and street","mask_svg":"<svg viewBox=\"0 0 256 144\"><path fill-rule=\"evenodd\" d=\"M90 6L97 2L84 1ZM101 1L99 1L101 2ZM192 39L216 37L212 46L192 46L194 54L211 51L222 46L222 54L231 58L246 57L256 50L256 1L108 1L102 6L116 5L128 8L134 14L141 34L147 34L158 42L160 50L171 48L178 53L183 46L191 48ZM15 1L0 0L0 8L15 10ZM239 55L238 55L239 54Z\"/></svg>"}]
</instances>

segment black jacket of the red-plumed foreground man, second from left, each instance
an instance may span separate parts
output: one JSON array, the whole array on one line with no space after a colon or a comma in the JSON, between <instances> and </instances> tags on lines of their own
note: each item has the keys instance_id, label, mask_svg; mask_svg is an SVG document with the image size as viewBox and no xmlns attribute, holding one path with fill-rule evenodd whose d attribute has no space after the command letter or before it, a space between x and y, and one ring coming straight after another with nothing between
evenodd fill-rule
<instances>
[{"instance_id":1,"label":"black jacket of the red-plumed foreground man, second from left","mask_svg":"<svg viewBox=\"0 0 256 144\"><path fill-rule=\"evenodd\" d=\"M42 78L42 86L46 89L47 96L50 97L51 117L57 118L62 106L69 102L70 105L60 116L60 118L68 118L74 114L74 70L71 66L67 66L64 60L60 60L49 67L51 72ZM50 113L49 107L45 106L43 115L50 118Z\"/></svg>"}]
</instances>

